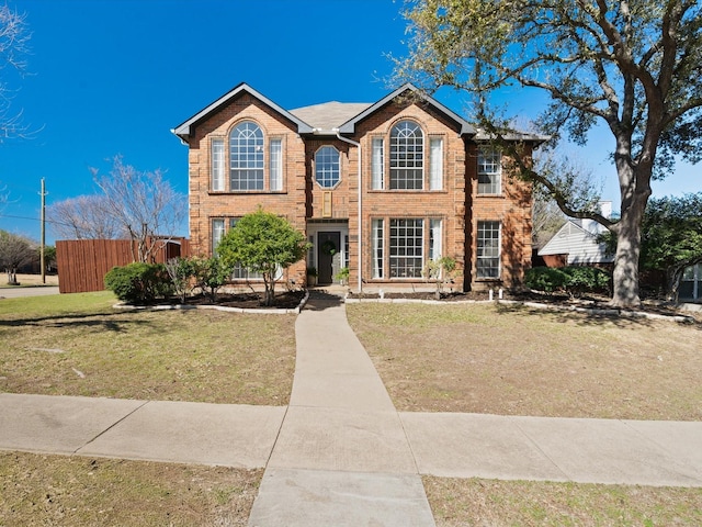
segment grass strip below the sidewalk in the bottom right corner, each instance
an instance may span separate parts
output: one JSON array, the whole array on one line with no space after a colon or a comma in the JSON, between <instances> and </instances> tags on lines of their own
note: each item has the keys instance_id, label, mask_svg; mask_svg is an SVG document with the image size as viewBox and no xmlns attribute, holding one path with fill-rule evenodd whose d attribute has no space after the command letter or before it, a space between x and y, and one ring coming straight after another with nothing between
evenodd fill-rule
<instances>
[{"instance_id":1,"label":"grass strip below the sidewalk in the bottom right corner","mask_svg":"<svg viewBox=\"0 0 702 527\"><path fill-rule=\"evenodd\" d=\"M702 489L423 478L438 527L702 525Z\"/></svg>"}]
</instances>

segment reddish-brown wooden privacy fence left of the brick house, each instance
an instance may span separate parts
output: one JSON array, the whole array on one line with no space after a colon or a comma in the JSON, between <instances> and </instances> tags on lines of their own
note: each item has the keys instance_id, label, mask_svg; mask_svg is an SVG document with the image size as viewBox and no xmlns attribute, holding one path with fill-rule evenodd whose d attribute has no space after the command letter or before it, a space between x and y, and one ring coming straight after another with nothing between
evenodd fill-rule
<instances>
[{"instance_id":1,"label":"reddish-brown wooden privacy fence left of the brick house","mask_svg":"<svg viewBox=\"0 0 702 527\"><path fill-rule=\"evenodd\" d=\"M115 266L134 261L135 242L128 239L71 239L56 242L58 290L61 293L84 293L105 289L104 278ZM159 244L161 245L161 244ZM185 238L163 242L154 261L163 264L170 258L190 256Z\"/></svg>"}]
</instances>

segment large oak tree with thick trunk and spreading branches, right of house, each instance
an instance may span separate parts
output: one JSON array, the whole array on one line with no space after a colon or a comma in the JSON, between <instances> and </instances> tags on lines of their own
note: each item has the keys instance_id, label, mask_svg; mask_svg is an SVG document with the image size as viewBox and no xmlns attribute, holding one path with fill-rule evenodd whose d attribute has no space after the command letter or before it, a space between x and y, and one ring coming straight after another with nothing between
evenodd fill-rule
<instances>
[{"instance_id":1,"label":"large oak tree with thick trunk and spreading branches, right of house","mask_svg":"<svg viewBox=\"0 0 702 527\"><path fill-rule=\"evenodd\" d=\"M499 139L495 93L516 86L550 96L541 131L587 144L603 123L621 191L621 218L578 210L568 192L523 166L570 216L618 239L612 303L639 303L641 225L653 178L681 156L700 159L702 8L697 0L408 0L412 35L397 72L428 90L475 98L477 124ZM529 93L526 93L526 97Z\"/></svg>"}]
</instances>

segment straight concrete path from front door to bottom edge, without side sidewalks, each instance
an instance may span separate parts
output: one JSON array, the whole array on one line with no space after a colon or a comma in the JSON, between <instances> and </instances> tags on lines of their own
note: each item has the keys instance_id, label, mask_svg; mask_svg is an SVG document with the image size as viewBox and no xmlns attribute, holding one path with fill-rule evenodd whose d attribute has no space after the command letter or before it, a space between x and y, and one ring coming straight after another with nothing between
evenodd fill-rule
<instances>
[{"instance_id":1,"label":"straight concrete path from front door to bottom edge, without side sidewalks","mask_svg":"<svg viewBox=\"0 0 702 527\"><path fill-rule=\"evenodd\" d=\"M252 527L433 526L403 423L337 296L295 324L295 379Z\"/></svg>"}]
</instances>

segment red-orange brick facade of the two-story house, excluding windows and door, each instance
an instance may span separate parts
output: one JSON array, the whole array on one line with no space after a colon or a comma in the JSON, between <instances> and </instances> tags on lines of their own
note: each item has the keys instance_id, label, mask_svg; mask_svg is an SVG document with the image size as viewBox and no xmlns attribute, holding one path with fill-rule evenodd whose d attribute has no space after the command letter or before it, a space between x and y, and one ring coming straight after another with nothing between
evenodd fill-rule
<instances>
[{"instance_id":1,"label":"red-orange brick facade of the two-story house, excluding windows and door","mask_svg":"<svg viewBox=\"0 0 702 527\"><path fill-rule=\"evenodd\" d=\"M386 145L390 128L403 119L421 124L424 132L424 153L429 159L429 138L443 139L443 189L439 191L373 191L371 190L372 138L383 136ZM283 141L283 192L212 192L211 141L225 139L230 130L242 120L258 123L267 138ZM458 289L491 285L512 287L521 283L523 269L531 262L531 188L529 184L502 175L502 193L496 197L477 194L477 147L458 136L456 123L446 120L432 106L410 99L387 104L356 126L351 139L361 143L362 166L362 266L366 283L382 287L398 284L401 280L372 280L370 261L371 220L390 217L422 217L442 220L442 247L445 256L457 262L455 282ZM212 220L241 216L258 206L286 217L292 225L307 234L310 220L348 221L350 278L358 282L358 148L333 137L309 136L302 138L294 123L272 111L258 99L244 93L229 101L206 121L197 123L190 142L190 236L192 254L211 255ZM320 146L335 146L341 154L341 180L333 189L322 189L314 180L314 156ZM268 142L265 143L268 147ZM386 147L387 148L387 147ZM225 148L228 149L228 148ZM528 153L529 155L531 152ZM228 155L226 156L228 159ZM268 162L268 156L264 156ZM385 159L386 177L388 159ZM428 167L428 164L427 164ZM225 170L228 172L228 170ZM268 167L264 167L268 176ZM268 182L267 182L268 184ZM325 193L331 195L331 214L322 214ZM482 281L475 276L476 232L478 221L501 223L502 251L500 280ZM228 222L227 222L228 225ZM303 283L305 262L290 269L290 279ZM415 280L417 282L417 280Z\"/></svg>"}]
</instances>

